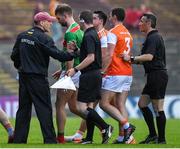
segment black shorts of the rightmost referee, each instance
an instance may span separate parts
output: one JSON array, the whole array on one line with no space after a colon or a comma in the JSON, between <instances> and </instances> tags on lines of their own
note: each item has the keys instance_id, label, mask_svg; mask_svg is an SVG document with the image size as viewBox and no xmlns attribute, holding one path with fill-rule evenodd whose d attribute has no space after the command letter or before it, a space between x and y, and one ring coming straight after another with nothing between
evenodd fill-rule
<instances>
[{"instance_id":1,"label":"black shorts of the rightmost referee","mask_svg":"<svg viewBox=\"0 0 180 149\"><path fill-rule=\"evenodd\" d=\"M166 70L153 71L147 74L147 83L142 95L149 95L151 99L164 99L168 83Z\"/></svg>"}]
</instances>

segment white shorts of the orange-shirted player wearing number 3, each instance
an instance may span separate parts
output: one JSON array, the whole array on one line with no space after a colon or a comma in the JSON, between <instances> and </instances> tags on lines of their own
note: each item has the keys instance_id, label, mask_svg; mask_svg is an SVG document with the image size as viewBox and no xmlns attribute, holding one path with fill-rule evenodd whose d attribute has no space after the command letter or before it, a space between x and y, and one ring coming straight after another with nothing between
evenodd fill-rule
<instances>
[{"instance_id":1,"label":"white shorts of the orange-shirted player wearing number 3","mask_svg":"<svg viewBox=\"0 0 180 149\"><path fill-rule=\"evenodd\" d=\"M132 76L106 76L102 80L102 89L121 93L129 91L132 84Z\"/></svg>"}]
</instances>

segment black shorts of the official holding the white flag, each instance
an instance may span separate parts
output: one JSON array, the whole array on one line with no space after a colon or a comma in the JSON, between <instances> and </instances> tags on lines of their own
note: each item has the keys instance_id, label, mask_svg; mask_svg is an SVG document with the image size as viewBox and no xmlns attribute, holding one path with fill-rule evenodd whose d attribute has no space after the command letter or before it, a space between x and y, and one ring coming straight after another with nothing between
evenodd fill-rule
<instances>
[{"instance_id":1,"label":"black shorts of the official holding the white flag","mask_svg":"<svg viewBox=\"0 0 180 149\"><path fill-rule=\"evenodd\" d=\"M91 70L80 75L78 101L89 103L101 98L102 75L100 70Z\"/></svg>"}]
</instances>

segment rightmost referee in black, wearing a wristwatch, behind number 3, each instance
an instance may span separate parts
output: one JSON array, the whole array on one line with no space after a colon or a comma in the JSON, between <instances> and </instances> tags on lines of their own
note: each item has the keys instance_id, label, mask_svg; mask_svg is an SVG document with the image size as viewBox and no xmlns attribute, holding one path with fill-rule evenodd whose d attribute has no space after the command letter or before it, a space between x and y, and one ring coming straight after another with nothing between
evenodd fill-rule
<instances>
[{"instance_id":1,"label":"rightmost referee in black, wearing a wristwatch, behind number 3","mask_svg":"<svg viewBox=\"0 0 180 149\"><path fill-rule=\"evenodd\" d=\"M158 143L166 144L164 113L164 96L168 83L166 70L165 46L162 36L155 29L156 16L144 14L139 23L139 29L146 34L140 56L124 55L124 60L132 63L142 63L147 76L147 82L138 102L144 120L149 128L149 135L140 144ZM158 135L155 130L153 114L148 108L152 103L156 115Z\"/></svg>"}]
</instances>

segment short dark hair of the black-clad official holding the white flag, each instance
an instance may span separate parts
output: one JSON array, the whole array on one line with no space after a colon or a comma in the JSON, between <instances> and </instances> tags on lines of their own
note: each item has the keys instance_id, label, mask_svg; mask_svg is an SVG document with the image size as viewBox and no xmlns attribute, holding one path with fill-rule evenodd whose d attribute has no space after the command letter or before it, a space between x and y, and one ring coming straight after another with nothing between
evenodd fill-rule
<instances>
[{"instance_id":1,"label":"short dark hair of the black-clad official holding the white flag","mask_svg":"<svg viewBox=\"0 0 180 149\"><path fill-rule=\"evenodd\" d=\"M90 10L82 11L79 18L84 20L86 24L93 24L93 13Z\"/></svg>"}]
</instances>

